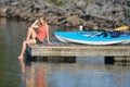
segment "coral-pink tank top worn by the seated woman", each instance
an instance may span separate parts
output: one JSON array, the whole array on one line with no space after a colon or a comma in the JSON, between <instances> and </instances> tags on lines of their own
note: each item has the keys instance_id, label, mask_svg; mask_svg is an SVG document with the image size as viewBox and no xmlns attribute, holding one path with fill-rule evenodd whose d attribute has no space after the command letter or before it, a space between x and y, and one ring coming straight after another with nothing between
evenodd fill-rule
<instances>
[{"instance_id":1,"label":"coral-pink tank top worn by the seated woman","mask_svg":"<svg viewBox=\"0 0 130 87\"><path fill-rule=\"evenodd\" d=\"M46 35L47 35L47 32L46 32L46 26L42 26L38 29L38 35L37 35L37 38L40 40L40 41L43 41L44 38L46 38Z\"/></svg>"}]
</instances>

